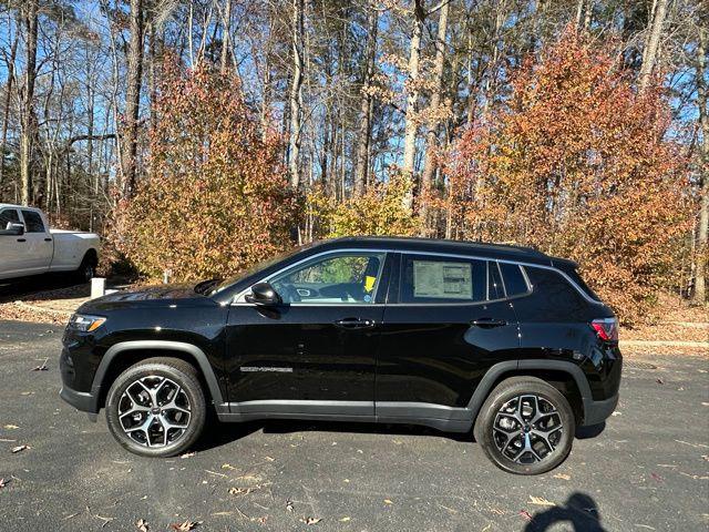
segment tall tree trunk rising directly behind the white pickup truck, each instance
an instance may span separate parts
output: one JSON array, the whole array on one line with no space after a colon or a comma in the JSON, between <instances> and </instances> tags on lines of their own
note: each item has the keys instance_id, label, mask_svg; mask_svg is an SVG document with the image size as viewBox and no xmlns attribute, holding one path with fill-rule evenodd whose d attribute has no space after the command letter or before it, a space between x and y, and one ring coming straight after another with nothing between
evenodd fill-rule
<instances>
[{"instance_id":1,"label":"tall tree trunk rising directly behind the white pickup truck","mask_svg":"<svg viewBox=\"0 0 709 532\"><path fill-rule=\"evenodd\" d=\"M22 204L32 202L32 144L37 137L34 116L34 81L37 79L37 22L38 0L28 1L24 7L24 27L27 30L24 86L20 114L20 176L22 181Z\"/></svg>"}]
</instances>

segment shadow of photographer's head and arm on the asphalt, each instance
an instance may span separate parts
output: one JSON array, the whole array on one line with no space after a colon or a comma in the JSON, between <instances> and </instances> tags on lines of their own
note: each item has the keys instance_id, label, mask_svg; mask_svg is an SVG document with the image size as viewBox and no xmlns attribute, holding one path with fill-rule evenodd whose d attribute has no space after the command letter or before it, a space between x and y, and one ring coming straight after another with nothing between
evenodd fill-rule
<instances>
[{"instance_id":1,"label":"shadow of photographer's head and arm on the asphalt","mask_svg":"<svg viewBox=\"0 0 709 532\"><path fill-rule=\"evenodd\" d=\"M571 526L564 530L574 532L606 532L600 524L600 513L598 504L590 495L575 492L569 495L563 505L543 510L534 515L525 526L524 532L545 532L547 530L558 530L558 523Z\"/></svg>"}]
</instances>

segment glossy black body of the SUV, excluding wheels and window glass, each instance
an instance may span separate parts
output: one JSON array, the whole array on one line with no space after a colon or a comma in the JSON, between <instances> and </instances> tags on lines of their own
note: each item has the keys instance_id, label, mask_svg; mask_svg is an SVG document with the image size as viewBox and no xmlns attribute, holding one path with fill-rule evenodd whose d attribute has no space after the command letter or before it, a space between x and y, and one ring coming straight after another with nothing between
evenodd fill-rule
<instances>
[{"instance_id":1,"label":"glossy black body of the SUV, excluding wheels and window glass","mask_svg":"<svg viewBox=\"0 0 709 532\"><path fill-rule=\"evenodd\" d=\"M255 283L335 250L387 254L368 304L267 307L243 299ZM484 276L463 275L473 287L486 279L486 291L473 288L436 303L435 294L403 290L412 274L402 269L402 257L412 256L487 264ZM502 275L497 264L506 265ZM510 264L522 270L505 293ZM193 285L113 294L78 310L106 318L96 330L68 327L61 395L95 413L116 367L177 356L201 370L223 420L352 419L466 431L500 379L555 371L576 383L579 422L599 422L617 402L621 357L617 342L600 340L590 327L613 313L573 279L573 267L512 246L342 238L305 247L207 294ZM470 300L455 300L461 294Z\"/></svg>"}]
</instances>

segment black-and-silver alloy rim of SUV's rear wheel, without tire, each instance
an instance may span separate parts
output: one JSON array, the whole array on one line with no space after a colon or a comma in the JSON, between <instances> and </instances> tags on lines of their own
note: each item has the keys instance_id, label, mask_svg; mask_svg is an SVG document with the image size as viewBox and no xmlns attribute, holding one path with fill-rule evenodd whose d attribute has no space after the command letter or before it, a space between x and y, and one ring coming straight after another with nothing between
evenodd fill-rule
<instances>
[{"instance_id":1,"label":"black-and-silver alloy rim of SUV's rear wheel, without tire","mask_svg":"<svg viewBox=\"0 0 709 532\"><path fill-rule=\"evenodd\" d=\"M516 463L546 460L558 447L564 424L545 397L525 393L505 402L495 416L493 440L502 456Z\"/></svg>"}]
</instances>

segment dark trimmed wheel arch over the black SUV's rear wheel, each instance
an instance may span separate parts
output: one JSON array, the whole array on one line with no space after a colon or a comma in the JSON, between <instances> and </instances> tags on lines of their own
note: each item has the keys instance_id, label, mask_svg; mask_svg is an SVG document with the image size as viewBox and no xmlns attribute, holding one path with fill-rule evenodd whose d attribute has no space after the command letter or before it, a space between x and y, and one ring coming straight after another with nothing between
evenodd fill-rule
<instances>
[{"instance_id":1,"label":"dark trimmed wheel arch over the black SUV's rear wheel","mask_svg":"<svg viewBox=\"0 0 709 532\"><path fill-rule=\"evenodd\" d=\"M483 402L495 387L510 377L537 377L558 389L574 409L578 424L583 424L585 405L593 400L583 370L565 360L507 360L492 366L483 376L467 403L475 423Z\"/></svg>"}]
</instances>

